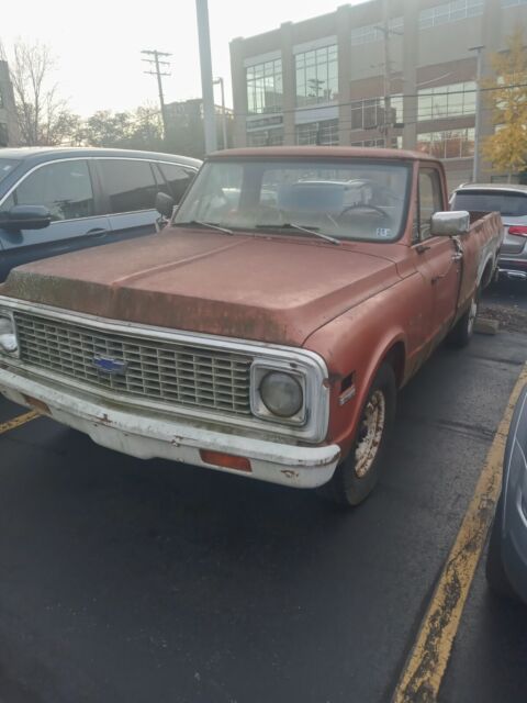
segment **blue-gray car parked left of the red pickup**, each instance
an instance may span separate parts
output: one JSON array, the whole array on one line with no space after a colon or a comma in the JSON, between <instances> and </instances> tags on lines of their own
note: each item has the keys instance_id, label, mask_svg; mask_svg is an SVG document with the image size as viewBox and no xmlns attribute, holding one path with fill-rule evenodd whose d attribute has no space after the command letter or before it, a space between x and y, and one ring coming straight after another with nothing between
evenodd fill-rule
<instances>
[{"instance_id":1,"label":"blue-gray car parked left of the red pickup","mask_svg":"<svg viewBox=\"0 0 527 703\"><path fill-rule=\"evenodd\" d=\"M155 232L201 161L91 147L0 149L0 282L15 266Z\"/></svg>"}]
</instances>

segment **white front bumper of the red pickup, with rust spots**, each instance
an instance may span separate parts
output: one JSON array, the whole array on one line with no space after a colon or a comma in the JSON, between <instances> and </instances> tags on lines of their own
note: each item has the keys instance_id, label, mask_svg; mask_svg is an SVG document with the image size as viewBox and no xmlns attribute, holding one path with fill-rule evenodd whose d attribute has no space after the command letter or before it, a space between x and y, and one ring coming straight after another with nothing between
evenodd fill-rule
<instances>
[{"instance_id":1,"label":"white front bumper of the red pickup, with rust spots","mask_svg":"<svg viewBox=\"0 0 527 703\"><path fill-rule=\"evenodd\" d=\"M340 457L338 445L295 446L210 429L180 420L159 420L139 411L116 410L93 397L75 394L0 369L0 392L31 406L24 395L49 408L59 423L83 432L99 445L142 459L155 457L203 466L294 488L316 488L333 476ZM203 423L204 425L204 423ZM200 449L245 457L250 472L202 460Z\"/></svg>"}]
</instances>

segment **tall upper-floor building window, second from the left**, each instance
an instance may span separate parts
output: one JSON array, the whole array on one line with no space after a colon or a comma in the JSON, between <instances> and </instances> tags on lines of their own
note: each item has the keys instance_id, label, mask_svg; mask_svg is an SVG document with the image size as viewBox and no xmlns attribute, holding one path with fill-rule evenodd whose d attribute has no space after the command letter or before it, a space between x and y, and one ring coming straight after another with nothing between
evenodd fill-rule
<instances>
[{"instance_id":1,"label":"tall upper-floor building window, second from the left","mask_svg":"<svg viewBox=\"0 0 527 703\"><path fill-rule=\"evenodd\" d=\"M337 46L325 46L294 57L296 104L330 102L338 98Z\"/></svg>"}]
</instances>

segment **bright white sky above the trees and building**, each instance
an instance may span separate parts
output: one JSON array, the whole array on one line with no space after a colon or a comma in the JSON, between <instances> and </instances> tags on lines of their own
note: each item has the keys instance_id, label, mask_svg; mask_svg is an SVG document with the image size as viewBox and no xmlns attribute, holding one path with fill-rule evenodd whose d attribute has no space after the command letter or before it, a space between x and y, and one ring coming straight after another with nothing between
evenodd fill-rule
<instances>
[{"instance_id":1,"label":"bright white sky above the trees and building","mask_svg":"<svg viewBox=\"0 0 527 703\"><path fill-rule=\"evenodd\" d=\"M351 0L356 4L361 0ZM232 105L229 41L333 12L343 0L209 0L214 77L223 77ZM155 76L142 49L169 52L166 102L201 96L194 0L24 0L3 2L0 41L9 54L16 40L47 44L56 58L53 80L81 116L97 110L132 110L158 101ZM216 87L220 103L220 87Z\"/></svg>"}]
</instances>

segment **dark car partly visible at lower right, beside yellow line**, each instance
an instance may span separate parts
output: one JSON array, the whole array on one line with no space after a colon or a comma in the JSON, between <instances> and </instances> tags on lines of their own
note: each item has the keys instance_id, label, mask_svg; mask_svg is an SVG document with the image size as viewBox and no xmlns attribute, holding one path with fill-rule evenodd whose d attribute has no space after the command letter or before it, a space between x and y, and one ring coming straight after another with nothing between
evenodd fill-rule
<instances>
[{"instance_id":1,"label":"dark car partly visible at lower right, beside yellow line","mask_svg":"<svg viewBox=\"0 0 527 703\"><path fill-rule=\"evenodd\" d=\"M494 591L527 604L527 386L514 411L486 558Z\"/></svg>"}]
</instances>

